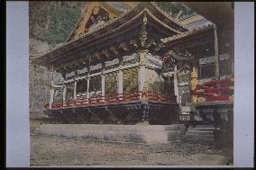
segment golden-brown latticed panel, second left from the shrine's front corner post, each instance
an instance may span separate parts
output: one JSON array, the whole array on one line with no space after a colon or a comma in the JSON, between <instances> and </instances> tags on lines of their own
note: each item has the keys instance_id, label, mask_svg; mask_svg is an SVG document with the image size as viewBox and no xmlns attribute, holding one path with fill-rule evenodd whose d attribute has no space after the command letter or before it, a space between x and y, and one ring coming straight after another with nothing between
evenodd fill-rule
<instances>
[{"instance_id":1,"label":"golden-brown latticed panel, second left from the shrine's front corner post","mask_svg":"<svg viewBox=\"0 0 256 170\"><path fill-rule=\"evenodd\" d=\"M105 75L105 95L116 94L117 72Z\"/></svg>"}]
</instances>

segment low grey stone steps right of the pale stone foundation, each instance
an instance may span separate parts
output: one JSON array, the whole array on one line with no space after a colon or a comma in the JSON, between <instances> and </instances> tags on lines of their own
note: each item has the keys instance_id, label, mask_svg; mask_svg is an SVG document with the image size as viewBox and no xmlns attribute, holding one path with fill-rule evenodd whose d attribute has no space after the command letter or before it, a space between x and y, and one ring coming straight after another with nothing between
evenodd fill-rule
<instances>
[{"instance_id":1,"label":"low grey stone steps right of the pale stone foundation","mask_svg":"<svg viewBox=\"0 0 256 170\"><path fill-rule=\"evenodd\" d=\"M214 142L213 125L197 125L195 128L188 128L186 131L186 140L198 143Z\"/></svg>"}]
</instances>

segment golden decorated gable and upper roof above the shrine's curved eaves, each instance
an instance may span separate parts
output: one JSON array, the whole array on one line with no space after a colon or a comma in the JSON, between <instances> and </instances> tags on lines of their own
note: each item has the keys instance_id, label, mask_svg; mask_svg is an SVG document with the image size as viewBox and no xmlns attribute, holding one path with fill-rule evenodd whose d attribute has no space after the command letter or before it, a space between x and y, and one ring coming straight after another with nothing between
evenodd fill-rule
<instances>
[{"instance_id":1,"label":"golden decorated gable and upper roof above the shrine's curved eaves","mask_svg":"<svg viewBox=\"0 0 256 170\"><path fill-rule=\"evenodd\" d=\"M71 32L66 42L70 40L76 40L79 37L87 34L88 31L93 31L97 27L105 25L107 22L112 22L114 19L119 18L120 15L123 15L123 13L128 13L130 11L134 13L136 12L136 10L133 10L134 8L138 8L139 6L142 7L143 5L145 7L148 7L152 14L160 15L160 18L163 17L163 19L169 18L171 22L177 24L179 27L187 29L187 27L184 24L172 19L169 13L165 13L164 11L162 11L160 7L155 3L88 2L85 9L83 10L84 12L81 18L79 19L76 28L74 29L74 31ZM96 21L96 17L99 17L100 21ZM102 20L102 18L105 19ZM180 28L176 27L176 29L179 30Z\"/></svg>"}]
</instances>

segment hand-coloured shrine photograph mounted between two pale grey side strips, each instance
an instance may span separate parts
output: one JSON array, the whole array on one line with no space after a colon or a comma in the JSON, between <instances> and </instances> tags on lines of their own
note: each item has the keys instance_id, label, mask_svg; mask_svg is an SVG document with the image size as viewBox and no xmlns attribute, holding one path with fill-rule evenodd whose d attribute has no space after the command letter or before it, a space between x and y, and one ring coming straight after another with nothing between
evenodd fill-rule
<instances>
[{"instance_id":1,"label":"hand-coloured shrine photograph mounted between two pale grey side strips","mask_svg":"<svg viewBox=\"0 0 256 170\"><path fill-rule=\"evenodd\" d=\"M30 1L30 166L233 166L233 11Z\"/></svg>"}]
</instances>

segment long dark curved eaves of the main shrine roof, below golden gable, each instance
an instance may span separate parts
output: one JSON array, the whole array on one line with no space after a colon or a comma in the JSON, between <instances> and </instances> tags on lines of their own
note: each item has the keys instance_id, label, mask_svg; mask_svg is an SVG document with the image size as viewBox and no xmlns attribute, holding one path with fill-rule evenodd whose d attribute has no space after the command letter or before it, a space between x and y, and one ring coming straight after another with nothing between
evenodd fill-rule
<instances>
[{"instance_id":1,"label":"long dark curved eaves of the main shrine roof, below golden gable","mask_svg":"<svg viewBox=\"0 0 256 170\"><path fill-rule=\"evenodd\" d=\"M96 6L98 4L88 5ZM87 10L90 10L90 12L93 13L92 9L95 8L88 8L89 7L87 7ZM74 37L74 33L82 28L79 25L83 22L79 22L77 28L75 29L75 31L73 31L73 35L70 36L70 38L72 39L69 39L68 42L60 45L59 47L56 47L55 49L44 53L42 56L34 58L34 63L44 66L50 66L53 63L58 62L59 59L71 59L72 56L74 57L74 55L77 55L78 52L81 52L82 50L87 51L87 49L98 47L98 44L103 44L103 42L109 40L109 37L113 39L113 37L120 36L121 34L132 30L134 28L134 25L142 25L144 12L147 13L148 16L148 25L155 27L155 31L164 32L163 36L165 37L180 34L188 30L186 26L171 18L168 13L164 13L162 10L160 10L157 4L150 2L141 2L137 3L130 11L123 12L113 20L109 20L108 22L105 22L104 24L96 27L93 30L89 30L78 37ZM117 13L118 12L116 12L116 15ZM86 16L83 17L85 19ZM84 20L83 17L81 18L81 20ZM136 31L134 33L139 34L140 32ZM151 33L155 32L153 31ZM106 45L110 45L109 43L112 42L108 42L106 43Z\"/></svg>"}]
</instances>

